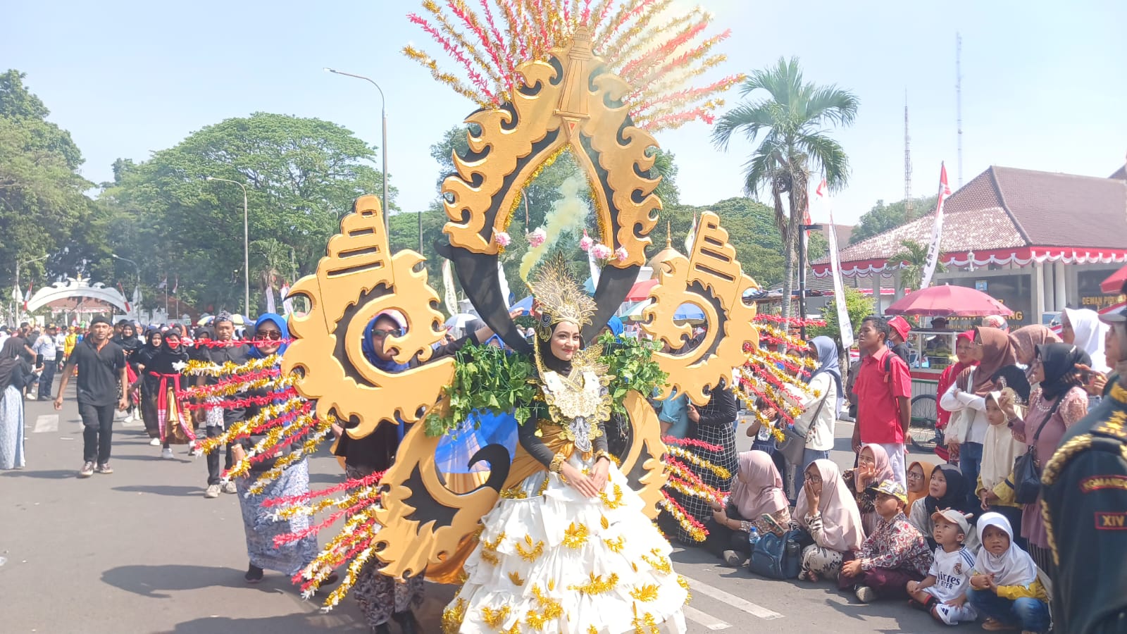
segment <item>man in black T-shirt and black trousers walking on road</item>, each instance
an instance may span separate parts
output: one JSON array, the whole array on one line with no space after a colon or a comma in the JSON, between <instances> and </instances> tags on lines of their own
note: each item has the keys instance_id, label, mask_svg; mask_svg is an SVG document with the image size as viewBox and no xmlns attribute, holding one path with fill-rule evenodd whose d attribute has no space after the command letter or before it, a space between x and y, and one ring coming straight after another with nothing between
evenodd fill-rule
<instances>
[{"instance_id":1,"label":"man in black T-shirt and black trousers walking on road","mask_svg":"<svg viewBox=\"0 0 1127 634\"><path fill-rule=\"evenodd\" d=\"M55 396L55 410L63 408L63 394L78 366L78 414L82 417L82 456L85 464L79 477L90 477L94 472L112 474L109 447L114 433L114 406L124 411L128 405L125 373L125 351L109 341L114 328L109 319L95 317L90 322L90 333L74 346L63 380ZM95 463L97 461L97 469Z\"/></svg>"}]
</instances>

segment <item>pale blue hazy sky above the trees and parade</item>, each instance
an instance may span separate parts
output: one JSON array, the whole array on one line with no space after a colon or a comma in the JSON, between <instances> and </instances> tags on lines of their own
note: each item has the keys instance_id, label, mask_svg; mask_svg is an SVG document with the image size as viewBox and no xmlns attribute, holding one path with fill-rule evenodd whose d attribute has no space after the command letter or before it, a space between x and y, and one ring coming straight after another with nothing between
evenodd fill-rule
<instances>
[{"instance_id":1,"label":"pale blue hazy sky above the trees and parade","mask_svg":"<svg viewBox=\"0 0 1127 634\"><path fill-rule=\"evenodd\" d=\"M676 0L684 7L689 2ZM969 182L991 165L1108 176L1127 156L1127 2L827 2L701 0L733 36L710 77L798 56L807 81L860 99L854 124L831 133L850 157L835 219L852 223L877 200L904 197L904 106L912 194L935 193L940 162L958 186L956 33L962 36L962 167ZM476 106L405 58L412 43L453 69L407 20L416 0L321 2L32 2L5 9L0 65L26 85L82 150L82 175L110 180L117 158L145 160L224 118L275 112L336 122L381 144L387 95L388 162L399 204L436 196L429 146ZM755 95L752 95L755 97ZM727 95L729 105L739 96ZM657 134L676 156L681 202L742 195L753 146L717 150L693 123ZM379 161L379 159L378 159ZM819 212L815 210L815 220Z\"/></svg>"}]
</instances>

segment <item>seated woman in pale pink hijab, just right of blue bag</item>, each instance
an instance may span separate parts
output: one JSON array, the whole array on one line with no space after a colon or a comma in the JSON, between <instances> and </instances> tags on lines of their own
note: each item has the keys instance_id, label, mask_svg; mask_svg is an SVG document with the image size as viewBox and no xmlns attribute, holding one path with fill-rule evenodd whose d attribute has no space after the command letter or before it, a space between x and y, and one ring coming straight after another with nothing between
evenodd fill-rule
<instances>
[{"instance_id":1,"label":"seated woman in pale pink hijab, just right of blue bag","mask_svg":"<svg viewBox=\"0 0 1127 634\"><path fill-rule=\"evenodd\" d=\"M836 579L844 554L861 549L861 512L832 460L815 460L806 467L795 519L814 538L814 544L802 549L799 579Z\"/></svg>"}]
</instances>

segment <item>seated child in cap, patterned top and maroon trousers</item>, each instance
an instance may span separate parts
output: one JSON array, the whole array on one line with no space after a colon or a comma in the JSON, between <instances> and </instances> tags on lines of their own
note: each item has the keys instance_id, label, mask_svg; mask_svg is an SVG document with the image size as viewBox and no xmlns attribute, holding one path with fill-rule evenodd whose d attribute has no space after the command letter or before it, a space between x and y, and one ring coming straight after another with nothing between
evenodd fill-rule
<instances>
[{"instance_id":1,"label":"seated child in cap, patterned top and maroon trousers","mask_svg":"<svg viewBox=\"0 0 1127 634\"><path fill-rule=\"evenodd\" d=\"M908 581L922 581L931 569L932 554L923 535L908 523L904 486L886 479L870 492L880 518L877 529L861 543L855 558L842 564L837 588L854 590L859 601L907 598Z\"/></svg>"}]
</instances>

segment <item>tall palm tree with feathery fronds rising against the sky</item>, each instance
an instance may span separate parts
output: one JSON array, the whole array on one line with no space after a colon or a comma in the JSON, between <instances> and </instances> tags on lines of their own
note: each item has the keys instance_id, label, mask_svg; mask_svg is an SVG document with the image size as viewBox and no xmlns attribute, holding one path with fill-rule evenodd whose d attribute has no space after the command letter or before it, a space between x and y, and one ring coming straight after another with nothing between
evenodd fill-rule
<instances>
[{"instance_id":1,"label":"tall palm tree with feathery fronds rising against the sky","mask_svg":"<svg viewBox=\"0 0 1127 634\"><path fill-rule=\"evenodd\" d=\"M744 192L748 196L771 193L775 222L787 245L782 315L790 316L798 226L807 209L807 185L811 174L824 173L831 192L841 190L849 177L849 157L827 127L850 125L857 117L857 95L834 86L802 81L798 58L779 58L773 68L757 70L739 86L739 96L756 90L766 96L744 102L721 116L712 142L727 150L731 134L742 130L748 141L762 141L744 164ZM787 196L787 208L782 199Z\"/></svg>"}]
</instances>

